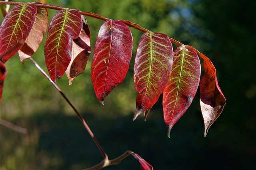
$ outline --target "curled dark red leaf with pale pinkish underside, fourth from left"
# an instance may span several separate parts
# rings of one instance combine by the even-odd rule
[[[78,38],[72,40],[72,56],[71,61],[66,70],[69,85],[76,76],[84,72],[88,57],[91,53],[90,30],[86,19],[82,16],[82,31]]]

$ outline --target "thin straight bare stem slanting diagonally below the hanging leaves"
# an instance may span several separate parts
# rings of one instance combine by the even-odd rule
[[[86,128],[86,130],[89,132],[90,136],[92,137],[92,139],[94,140],[95,144],[98,146],[102,156],[104,157],[104,160],[108,160],[108,155],[106,154],[106,152],[104,152],[103,148],[100,146],[100,143],[98,142],[98,140],[95,138],[92,130],[90,129],[90,127],[87,125],[86,121],[83,119],[83,117],[80,115],[80,113],[76,110],[76,108],[74,107],[74,105],[72,105],[72,103],[68,100],[68,98],[66,97],[66,95],[64,95],[64,93],[62,92],[62,90],[60,89],[60,87],[58,87],[58,85],[56,85],[56,83],[54,83],[54,81],[52,81],[52,79],[44,72],[44,70],[36,63],[36,61],[34,59],[32,59],[32,57],[29,58],[32,63],[34,63],[34,65],[41,71],[41,73],[50,81],[50,83],[52,83],[52,85],[60,92],[60,94],[62,95],[62,97],[66,100],[66,102],[72,107],[72,109],[74,110],[74,112],[76,113],[76,115],[79,117],[79,119],[82,121],[84,127]]]

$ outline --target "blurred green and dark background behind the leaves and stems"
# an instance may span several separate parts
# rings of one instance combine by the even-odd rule
[[[256,168],[255,1],[48,0],[47,3],[91,11],[114,20],[130,20],[151,31],[165,33],[196,47],[217,69],[227,104],[206,138],[199,94],[172,128],[170,138],[166,135],[161,99],[146,122],[142,116],[132,121],[136,100],[132,64],[126,79],[107,97],[104,106],[97,101],[92,88],[92,55],[85,72],[74,79],[71,87],[65,75],[57,80],[110,159],[132,150],[155,170]],[[49,10],[50,19],[55,13]],[[103,22],[86,19],[93,50]],[[142,32],[133,28],[131,31],[135,53]],[[33,58],[46,71],[43,49],[42,44]],[[80,120],[32,62],[22,64],[16,55],[6,67],[0,116],[26,128],[28,134],[0,125],[1,170],[77,170],[102,160]],[[119,165],[104,169],[140,169],[140,164],[129,156]]]

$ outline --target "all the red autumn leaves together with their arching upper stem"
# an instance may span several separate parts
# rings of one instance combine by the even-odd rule
[[[138,92],[134,120],[141,113],[146,120],[162,94],[164,121],[170,136],[170,130],[190,107],[198,87],[205,136],[220,116],[226,99],[218,85],[216,69],[210,59],[194,47],[128,20],[111,20],[92,12],[41,3],[13,4],[16,6],[10,12],[3,13],[6,16],[0,26],[0,95],[6,77],[6,61],[17,52],[21,62],[31,59],[47,28],[44,56],[51,81],[55,82],[66,73],[71,85],[73,79],[84,72],[91,53],[90,28],[85,18],[90,16],[104,20],[98,31],[91,65],[92,84],[100,103],[104,104],[128,72],[133,50],[130,26],[144,32],[134,56],[134,87]],[[48,8],[59,10],[49,26]],[[173,49],[172,44],[178,46]],[[203,59],[205,71],[201,79],[198,55]],[[133,156],[140,163],[142,160],[142,166],[143,162],[145,164],[138,155]],[[146,162],[144,169],[148,165]]]

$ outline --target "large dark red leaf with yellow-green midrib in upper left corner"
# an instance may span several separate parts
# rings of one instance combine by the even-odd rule
[[[17,5],[6,15],[0,27],[0,60],[5,63],[23,45],[36,20],[33,4]]]

